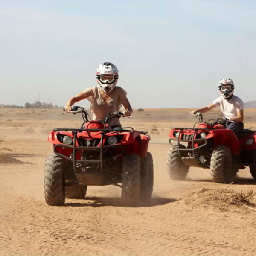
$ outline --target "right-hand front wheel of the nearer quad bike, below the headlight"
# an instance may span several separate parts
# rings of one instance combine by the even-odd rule
[[[122,163],[122,205],[136,206],[140,200],[140,156],[127,154]]]

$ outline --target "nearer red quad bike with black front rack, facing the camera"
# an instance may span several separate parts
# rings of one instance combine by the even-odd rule
[[[84,198],[88,185],[120,187],[124,206],[148,203],[154,175],[147,132],[111,128],[111,119],[130,117],[121,112],[109,113],[104,120],[89,120],[78,106],[64,113],[81,113],[84,122],[78,129],[55,128],[49,133],[53,153],[45,161],[46,203],[63,205],[65,198]]]

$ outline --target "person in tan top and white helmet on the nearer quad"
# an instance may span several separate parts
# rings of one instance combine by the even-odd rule
[[[116,86],[118,80],[117,67],[104,62],[97,67],[96,81],[98,86],[85,89],[67,101],[65,111],[70,111],[71,106],[82,99],[88,99],[90,110],[93,112],[94,120],[103,120],[108,113],[119,111],[121,106],[125,107],[124,115],[130,116],[133,112],[130,102],[126,97],[126,91]],[[110,120],[111,127],[121,126],[119,119]]]

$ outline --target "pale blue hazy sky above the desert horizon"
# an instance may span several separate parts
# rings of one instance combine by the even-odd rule
[[[0,0],[0,104],[66,105],[104,61],[134,108],[208,105],[224,77],[256,100],[256,1]]]

